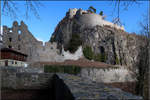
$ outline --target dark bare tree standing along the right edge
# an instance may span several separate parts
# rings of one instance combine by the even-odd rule
[[[140,22],[140,33],[144,36],[145,46],[141,46],[141,53],[139,54],[140,60],[137,65],[138,75],[137,75],[137,94],[142,95],[145,99],[149,98],[149,66],[150,66],[150,23],[149,23],[150,12],[143,15],[143,20]]]

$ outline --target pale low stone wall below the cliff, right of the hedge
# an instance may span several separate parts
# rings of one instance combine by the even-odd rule
[[[95,82],[135,82],[133,72],[124,67],[116,68],[82,68],[80,76]]]

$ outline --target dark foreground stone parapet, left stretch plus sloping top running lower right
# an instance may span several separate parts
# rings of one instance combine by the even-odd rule
[[[2,73],[2,90],[44,89],[47,91],[43,91],[40,95],[36,96],[40,97],[44,93],[52,100],[142,100],[142,97],[124,92],[121,89],[108,87],[102,83],[97,84],[96,82],[74,75],[60,73],[18,73],[17,69],[8,69],[7,67],[1,67],[0,71]],[[39,100],[42,100],[42,98],[39,98]]]

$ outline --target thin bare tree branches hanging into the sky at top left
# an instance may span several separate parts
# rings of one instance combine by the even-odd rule
[[[31,0],[25,0],[24,2],[25,7],[25,16],[28,19],[29,13],[33,13],[36,18],[40,19],[38,10],[42,5],[41,2],[37,1],[31,1]],[[11,18],[18,18],[20,16],[20,6],[18,4],[18,1],[13,0],[3,0],[2,3],[2,14],[5,16],[10,16]],[[21,11],[22,12],[22,11]]]

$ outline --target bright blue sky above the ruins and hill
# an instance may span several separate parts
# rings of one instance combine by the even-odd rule
[[[90,6],[97,9],[97,13],[100,11],[106,15],[106,20],[112,21],[116,17],[116,10],[114,10],[114,4],[111,1],[41,1],[43,6],[39,7],[38,13],[40,19],[37,19],[32,12],[30,17],[26,19],[24,1],[13,1],[17,3],[19,12],[18,18],[12,18],[10,16],[1,16],[1,27],[6,25],[12,27],[13,21],[21,20],[28,26],[29,31],[41,41],[49,41],[52,33],[54,32],[57,24],[65,17],[69,8],[82,8],[87,10]],[[34,2],[34,1],[33,1]],[[139,31],[139,22],[142,21],[142,16],[145,12],[148,12],[148,1],[139,1],[141,4],[133,4],[128,7],[128,10],[123,10],[121,6],[120,19],[127,32],[132,33]],[[3,7],[3,5],[2,5]]]

